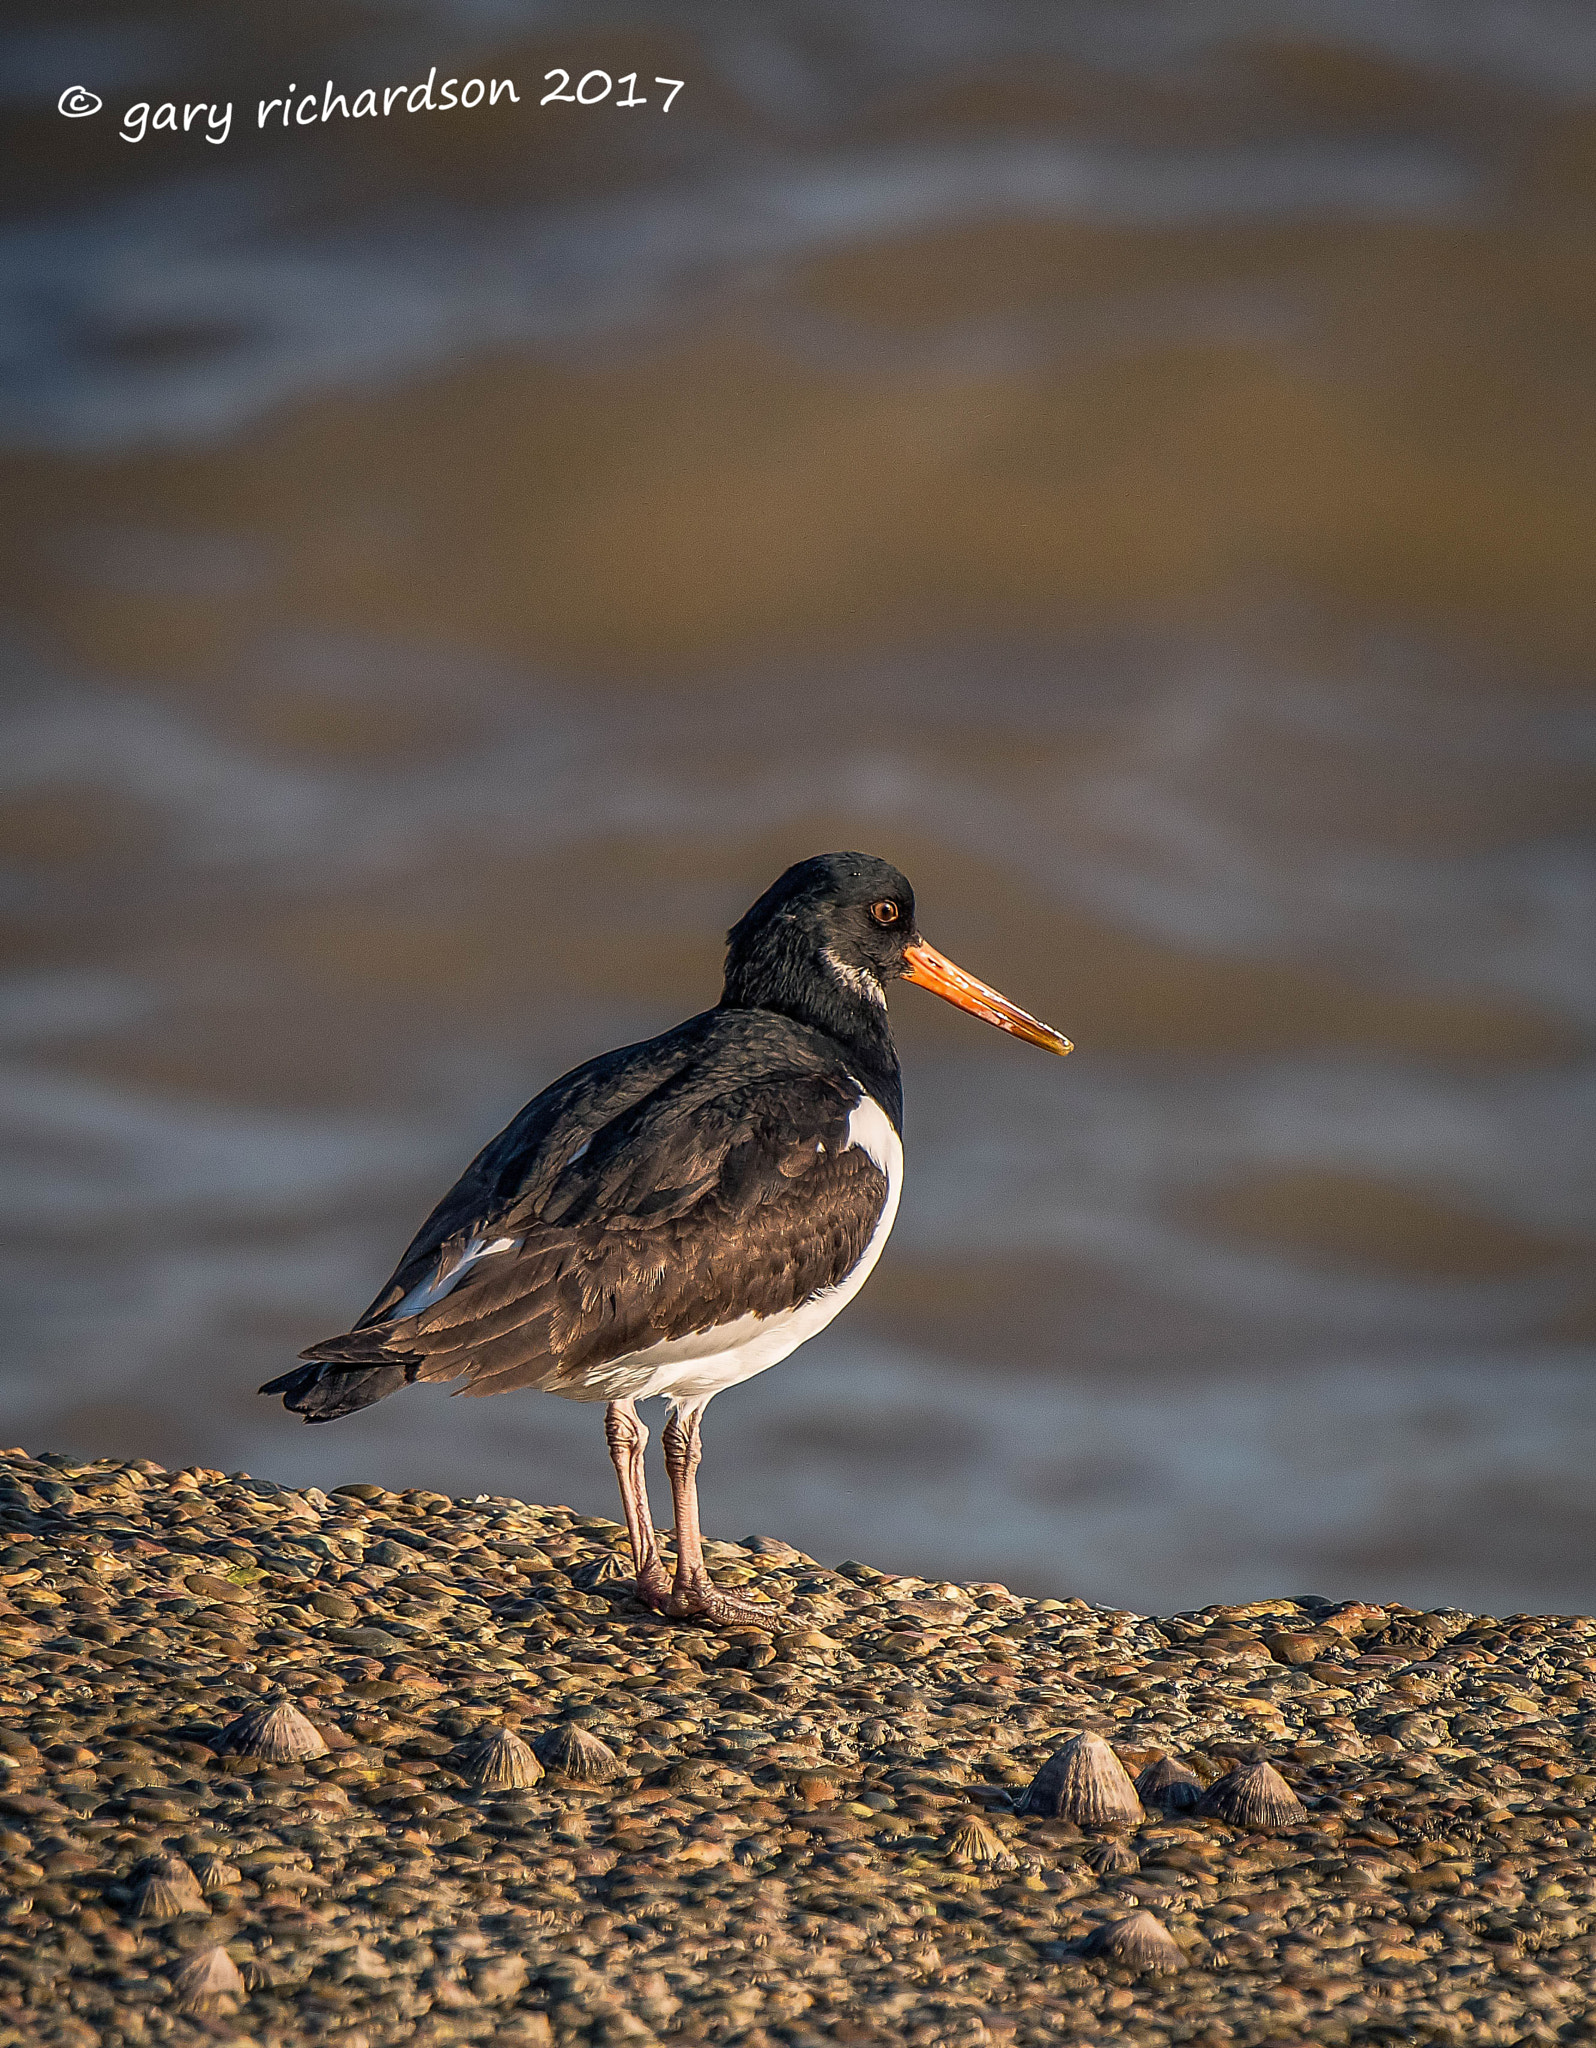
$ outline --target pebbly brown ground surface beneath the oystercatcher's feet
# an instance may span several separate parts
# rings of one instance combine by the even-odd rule
[[[1596,2042],[1594,1620],[709,1556],[774,1636],[565,1507],[0,1454],[0,2048]],[[1305,1810],[1018,1812],[1076,1735]]]

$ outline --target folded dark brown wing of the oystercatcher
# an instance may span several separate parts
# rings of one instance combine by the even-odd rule
[[[490,1208],[453,1225],[514,1249],[395,1319],[408,1288],[393,1288],[428,1270],[408,1255],[383,1296],[387,1319],[379,1311],[303,1356],[467,1378],[469,1393],[580,1384],[631,1352],[836,1286],[887,1200],[887,1176],[848,1143],[858,1085],[793,1028],[774,1071],[768,1044],[756,1063],[738,1057],[748,1028],[707,1034],[553,1171],[500,1184]],[[555,1151],[545,1139],[543,1153]]]

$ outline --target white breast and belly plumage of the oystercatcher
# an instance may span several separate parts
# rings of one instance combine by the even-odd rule
[[[781,1364],[799,1343],[826,1329],[871,1278],[875,1262],[891,1237],[891,1227],[897,1221],[897,1198],[904,1192],[904,1143],[881,1104],[863,1090],[848,1116],[848,1145],[856,1145],[887,1176],[887,1200],[881,1204],[881,1214],[858,1264],[836,1286],[822,1288],[797,1309],[783,1309],[779,1315],[740,1315],[715,1329],[697,1329],[686,1337],[652,1343],[645,1352],[611,1360],[592,1372],[582,1386],[553,1386],[551,1391],[572,1401],[621,1401],[627,1397],[647,1401],[652,1395],[668,1395],[680,1409],[701,1409],[721,1389],[752,1380],[756,1372]]]

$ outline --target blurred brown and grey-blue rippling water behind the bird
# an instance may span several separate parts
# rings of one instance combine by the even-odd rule
[[[434,63],[520,104],[256,127]],[[23,0],[0,76],[4,1436],[615,1513],[592,1409],[254,1386],[860,846],[1078,1053],[899,991],[893,1247],[711,1532],[1596,1606],[1588,6]]]

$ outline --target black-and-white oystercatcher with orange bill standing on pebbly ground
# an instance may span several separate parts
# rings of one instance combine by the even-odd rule
[[[699,1536],[699,1430],[860,1290],[897,1214],[904,1087],[887,983],[1069,1040],[928,946],[885,860],[789,868],[727,934],[715,1010],[604,1053],[527,1104],[422,1225],[342,1337],[260,1391],[305,1421],[410,1380],[604,1401],[637,1565],[662,1614],[770,1624],[719,1591]],[[654,1534],[637,1401],[664,1395],[676,1573]]]

